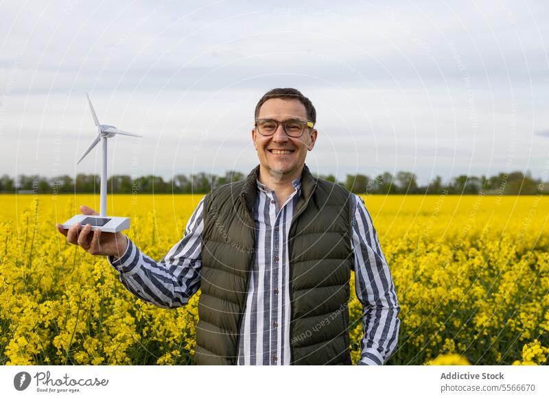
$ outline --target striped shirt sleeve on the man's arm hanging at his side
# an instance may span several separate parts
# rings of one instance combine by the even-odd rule
[[[355,256],[355,289],[362,303],[360,361],[382,365],[395,351],[399,335],[400,306],[389,266],[377,239],[362,197],[353,194],[352,243]]]

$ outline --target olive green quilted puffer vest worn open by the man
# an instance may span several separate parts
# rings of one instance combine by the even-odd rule
[[[240,323],[255,254],[253,206],[259,165],[204,202],[195,363],[237,363]],[[350,193],[305,165],[290,254],[290,359],[294,365],[351,364],[349,354]]]

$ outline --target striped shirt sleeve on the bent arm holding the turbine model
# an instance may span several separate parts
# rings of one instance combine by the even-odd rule
[[[129,238],[124,255],[117,260],[107,256],[108,263],[119,272],[120,281],[128,291],[165,309],[189,302],[200,288],[203,208],[204,197],[191,215],[183,239],[160,262],[143,254]]]

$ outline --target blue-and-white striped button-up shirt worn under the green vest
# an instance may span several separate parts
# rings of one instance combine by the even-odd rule
[[[290,364],[290,292],[288,236],[301,178],[284,204],[274,191],[257,180],[253,215],[257,239],[244,317],[240,326],[239,365]],[[395,286],[364,201],[352,195],[354,207],[351,248],[354,254],[355,290],[362,303],[360,365],[381,365],[395,351],[399,333]],[[117,261],[108,261],[122,284],[142,300],[166,309],[184,306],[200,288],[200,234],[204,226],[202,198],[189,219],[185,236],[160,262],[143,254],[128,238]],[[271,256],[274,254],[274,257]],[[278,255],[277,255],[278,254]]]

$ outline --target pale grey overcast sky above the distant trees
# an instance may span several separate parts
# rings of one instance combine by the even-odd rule
[[[314,173],[531,171],[549,180],[546,1],[11,1],[0,5],[0,174],[257,165],[255,104],[317,110]]]

